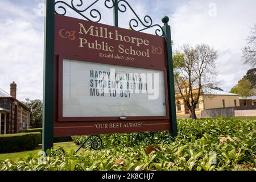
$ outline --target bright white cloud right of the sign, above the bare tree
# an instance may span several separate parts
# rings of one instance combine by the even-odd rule
[[[255,1],[214,1],[216,16],[209,16],[211,1],[190,1],[172,15],[175,47],[184,43],[209,44],[218,51],[217,71],[226,91],[237,84],[249,65],[242,64],[243,46],[249,27],[255,22]],[[213,4],[213,3],[212,3]],[[212,12],[210,12],[212,13]]]

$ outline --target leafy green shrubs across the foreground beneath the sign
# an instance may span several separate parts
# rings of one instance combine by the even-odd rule
[[[0,170],[255,170],[256,119],[180,119],[175,142],[164,143],[167,132],[155,133],[151,143],[136,146],[135,134],[102,135],[101,150],[75,154],[63,148],[48,156],[0,161]],[[84,137],[74,137],[77,143]],[[86,146],[89,147],[89,146]],[[89,149],[89,148],[88,148]]]

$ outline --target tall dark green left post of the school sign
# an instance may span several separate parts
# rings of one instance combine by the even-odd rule
[[[44,20],[44,92],[43,92],[43,151],[53,147],[53,86],[54,86],[54,8],[55,1],[46,0]]]

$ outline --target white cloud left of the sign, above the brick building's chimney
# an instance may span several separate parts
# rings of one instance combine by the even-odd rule
[[[42,99],[43,24],[38,19],[34,21],[34,13],[24,11],[10,2],[6,2],[5,6],[1,3],[0,15],[9,16],[6,15],[8,19],[0,20],[0,86],[10,92],[10,83],[15,81],[18,84],[19,100]],[[42,27],[39,28],[38,24]]]

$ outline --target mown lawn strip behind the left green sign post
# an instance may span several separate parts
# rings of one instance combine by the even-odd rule
[[[63,147],[64,150],[67,151],[67,152],[71,151],[72,149],[77,150],[77,148],[79,147],[74,142],[54,143],[53,146],[55,148]],[[81,149],[81,150],[83,150],[83,149]],[[38,147],[38,149],[31,150],[31,151],[0,154],[0,160],[10,159],[10,160],[16,161],[20,157],[26,157],[26,156],[29,156],[30,154],[37,155],[38,152],[40,152],[40,151],[42,151],[42,149],[40,147]]]

